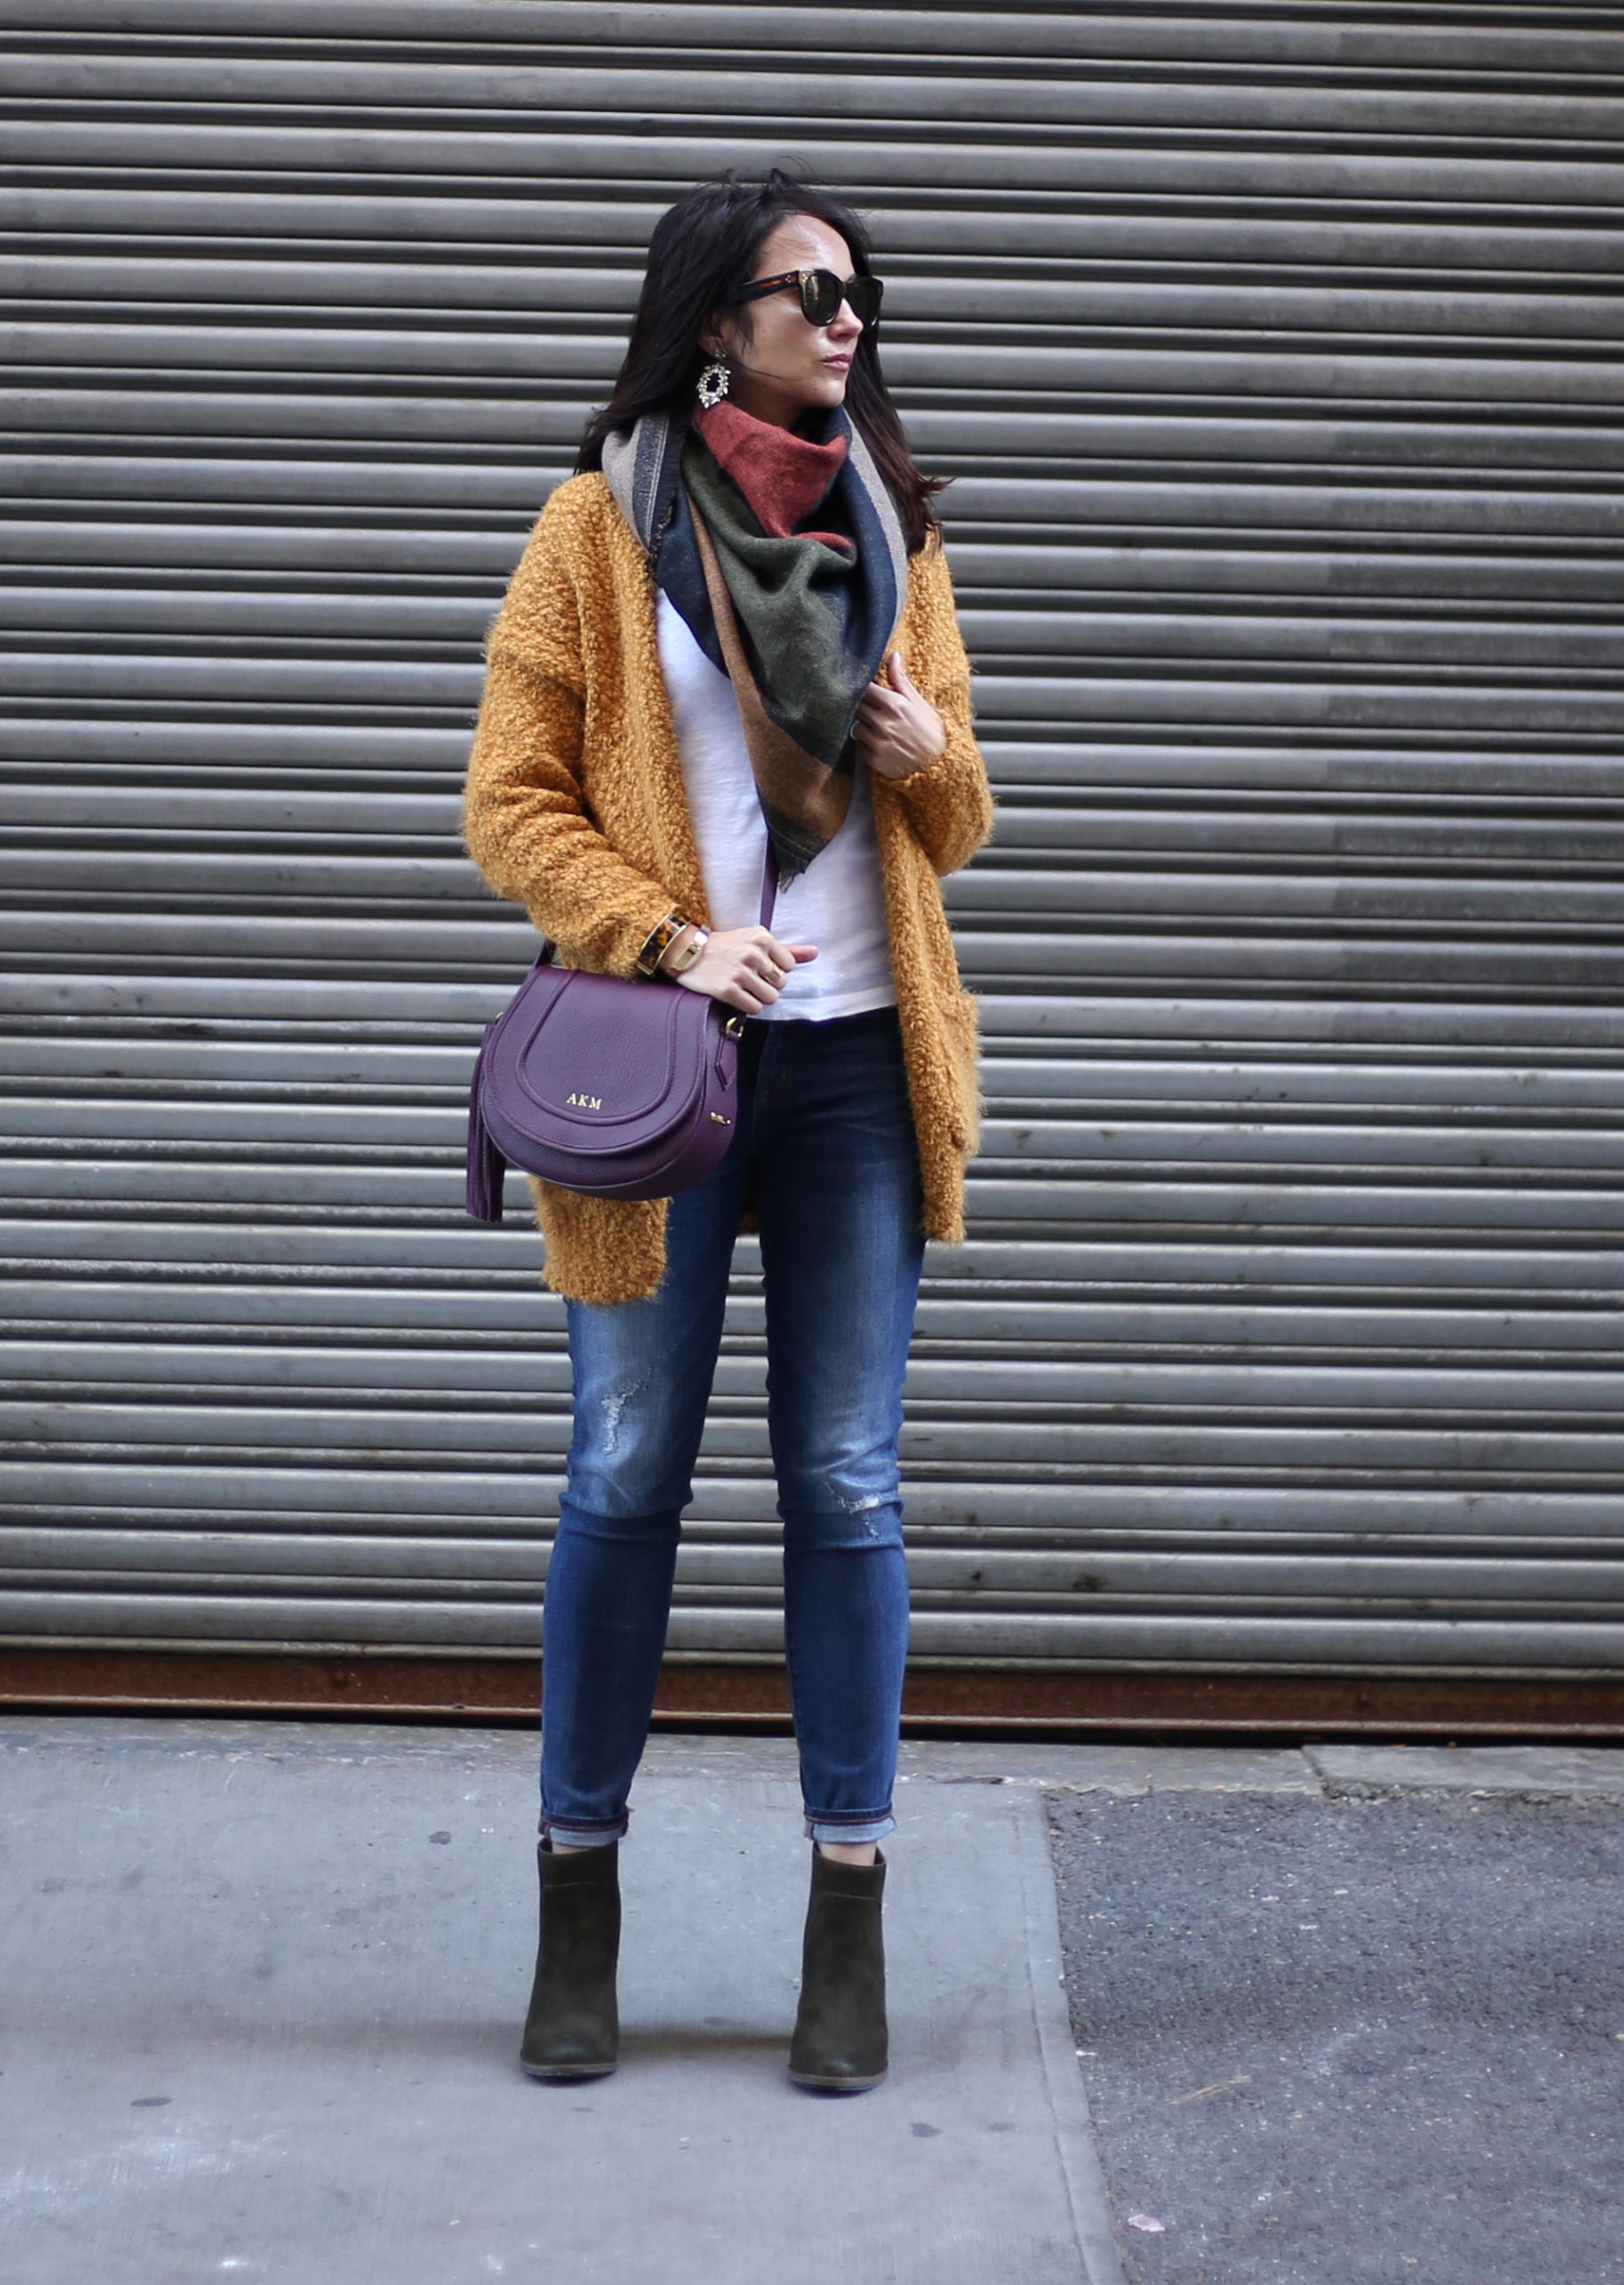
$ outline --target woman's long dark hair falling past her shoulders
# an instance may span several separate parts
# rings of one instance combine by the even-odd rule
[[[763,242],[790,215],[827,222],[852,249],[857,270],[868,276],[868,231],[857,215],[829,192],[799,183],[779,167],[763,183],[742,183],[729,171],[715,183],[690,190],[660,215],[649,240],[649,272],[637,297],[626,361],[610,402],[587,423],[576,457],[578,471],[601,468],[605,439],[626,434],[644,414],[688,411],[706,361],[699,347],[701,327],[751,281]],[[925,475],[909,452],[879,370],[873,324],[863,327],[852,356],[845,409],[875,455],[909,553],[916,553],[939,530],[932,496],[943,489],[943,480]]]

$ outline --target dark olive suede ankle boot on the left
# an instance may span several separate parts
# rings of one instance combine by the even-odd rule
[[[541,1867],[541,1949],[518,2061],[532,2079],[601,2079],[619,2063],[614,1963],[621,1949],[619,1842]]]

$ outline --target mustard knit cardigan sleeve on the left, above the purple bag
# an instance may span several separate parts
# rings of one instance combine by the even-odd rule
[[[571,967],[635,976],[672,898],[587,813],[587,672],[566,507],[560,494],[548,503],[491,626],[464,841],[491,889],[523,905]]]

